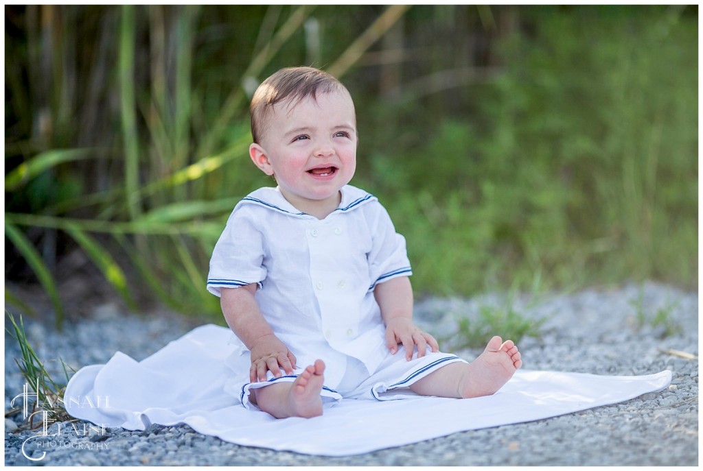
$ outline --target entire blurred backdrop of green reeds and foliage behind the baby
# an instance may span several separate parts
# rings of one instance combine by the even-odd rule
[[[303,64],[354,96],[352,183],[418,296],[695,286],[695,6],[6,6],[5,34],[6,278],[57,318],[74,248],[135,307],[221,317],[209,254],[273,184],[248,96]]]

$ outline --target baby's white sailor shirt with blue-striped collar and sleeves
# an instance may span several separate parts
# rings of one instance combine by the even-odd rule
[[[344,373],[349,355],[373,373],[388,353],[373,288],[411,274],[405,239],[378,199],[342,188],[339,207],[323,220],[301,213],[278,188],[240,201],[214,248],[207,289],[258,283],[257,303],[299,366],[317,358]],[[325,383],[335,383],[335,369]]]

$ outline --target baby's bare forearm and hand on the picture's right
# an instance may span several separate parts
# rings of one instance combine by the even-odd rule
[[[413,324],[413,288],[408,277],[377,284],[374,295],[386,324],[386,344],[391,353],[398,351],[399,343],[405,347],[408,360],[413,357],[415,345],[418,345],[418,357],[425,355],[427,345],[432,352],[439,350],[437,340]]]

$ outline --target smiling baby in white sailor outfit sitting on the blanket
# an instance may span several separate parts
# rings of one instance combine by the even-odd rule
[[[413,324],[405,239],[378,199],[349,185],[358,135],[347,88],[318,69],[281,69],[250,112],[250,157],[278,187],[240,201],[212,253],[207,288],[240,342],[226,389],[276,418],[320,416],[342,397],[500,389],[522,366],[511,340],[494,336],[467,363]]]

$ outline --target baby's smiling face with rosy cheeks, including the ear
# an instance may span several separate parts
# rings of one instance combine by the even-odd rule
[[[276,177],[285,199],[315,214],[315,208],[339,204],[340,188],[356,170],[356,142],[349,93],[318,93],[315,99],[275,105],[250,155],[262,171]]]

